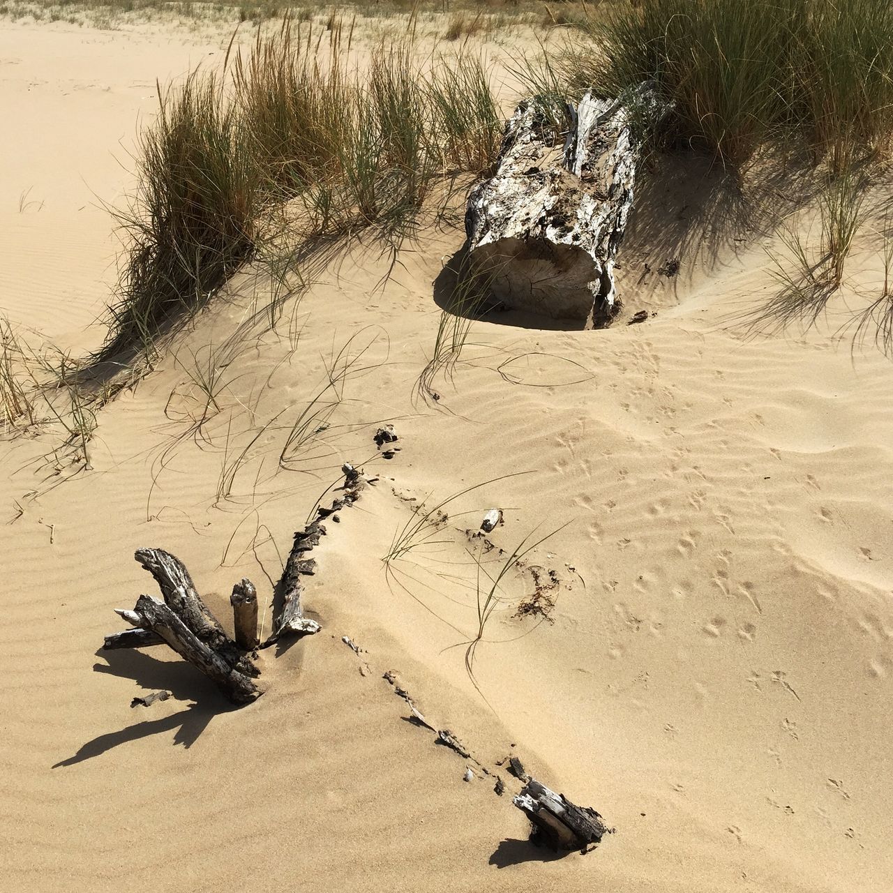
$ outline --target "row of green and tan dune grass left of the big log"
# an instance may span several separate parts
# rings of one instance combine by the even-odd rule
[[[419,61],[398,40],[361,68],[351,44],[339,19],[287,17],[224,71],[159,90],[96,360],[151,357],[249,261],[282,279],[333,240],[396,252],[435,190],[493,163],[502,121],[480,56]]]

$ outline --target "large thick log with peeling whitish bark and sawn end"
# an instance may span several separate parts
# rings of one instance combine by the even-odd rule
[[[468,258],[504,305],[605,326],[620,309],[613,268],[633,199],[633,114],[654,113],[643,84],[619,100],[587,93],[555,146],[554,105],[525,100],[505,129],[496,174],[472,190]]]

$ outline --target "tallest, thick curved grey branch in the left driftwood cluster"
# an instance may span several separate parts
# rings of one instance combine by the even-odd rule
[[[152,574],[162,590],[164,602],[177,614],[198,638],[214,652],[241,672],[253,672],[236,643],[224,632],[213,613],[208,610],[186,565],[163,549],[137,549],[134,558]],[[126,618],[125,618],[126,619]]]

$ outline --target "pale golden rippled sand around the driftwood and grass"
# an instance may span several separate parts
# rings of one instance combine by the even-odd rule
[[[113,153],[154,78],[219,38],[0,26],[22,121],[0,149],[3,313],[79,350],[101,340],[113,241],[92,196],[126,187]],[[20,213],[28,188],[45,204]],[[240,274],[99,413],[92,470],[71,480],[48,435],[0,445],[11,889],[889,889],[889,361],[825,328],[745,339],[729,313],[771,288],[759,240],[710,275],[637,284],[664,260],[649,229],[634,224],[622,286],[655,317],[478,322],[437,399],[416,383],[458,230],[421,233],[389,278],[375,246],[321,266],[275,330],[254,315],[268,284]],[[854,269],[872,263],[858,246]],[[196,430],[209,362],[223,384]],[[385,421],[390,460],[372,442]],[[314,551],[322,631],[263,652],[255,704],[228,709],[163,649],[97,653],[112,609],[154,593],[136,547],[179,555],[225,617],[242,576],[269,592],[346,461],[380,481]],[[382,560],[413,505],[466,488]],[[488,551],[466,530],[492,506]],[[505,578],[470,675],[488,579],[549,533]],[[408,721],[387,671],[476,762]],[[154,689],[173,697],[130,708]],[[616,833],[588,855],[530,847],[508,755]]]

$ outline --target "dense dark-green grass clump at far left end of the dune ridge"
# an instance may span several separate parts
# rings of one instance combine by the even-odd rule
[[[127,249],[100,361],[151,356],[256,249],[257,165],[220,79],[195,72],[159,88],[137,163],[135,196],[118,214]]]

